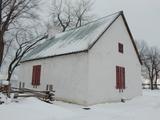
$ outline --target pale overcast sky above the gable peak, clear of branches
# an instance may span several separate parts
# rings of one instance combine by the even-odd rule
[[[46,0],[43,1],[46,2]],[[94,1],[93,12],[98,18],[123,10],[134,38],[160,47],[159,0]]]

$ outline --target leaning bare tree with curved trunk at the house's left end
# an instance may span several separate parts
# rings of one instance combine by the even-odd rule
[[[15,36],[15,40],[17,43],[16,46],[16,51],[14,54],[14,57],[12,57],[12,61],[10,62],[8,66],[8,76],[7,76],[7,81],[9,82],[8,90],[7,90],[7,96],[10,97],[10,80],[11,77],[15,71],[15,69],[20,65],[21,60],[23,57],[33,48],[35,48],[42,40],[46,39],[48,37],[47,34],[40,35],[34,39],[31,39],[32,37],[29,37],[29,39],[26,39],[27,37],[22,34],[22,31],[17,31],[17,34]],[[26,33],[25,33],[26,34]],[[9,48],[11,48],[9,46]]]

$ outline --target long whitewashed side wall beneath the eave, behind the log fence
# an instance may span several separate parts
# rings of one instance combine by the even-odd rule
[[[25,86],[31,89],[33,89],[31,85],[33,65],[41,65],[41,85],[37,89],[45,90],[46,84],[53,84],[56,99],[86,104],[88,86],[87,53],[23,63],[20,70],[20,81],[24,81]]]

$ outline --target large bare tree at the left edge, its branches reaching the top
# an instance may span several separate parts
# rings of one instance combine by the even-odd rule
[[[36,18],[32,14],[37,7],[37,0],[0,0],[0,65],[2,64],[5,34],[23,18]]]

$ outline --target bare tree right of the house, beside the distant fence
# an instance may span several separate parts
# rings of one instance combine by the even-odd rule
[[[157,80],[160,72],[160,51],[157,47],[148,47],[142,41],[138,43],[142,65],[142,76],[150,80],[151,89],[157,88]],[[155,86],[154,86],[155,85]]]

